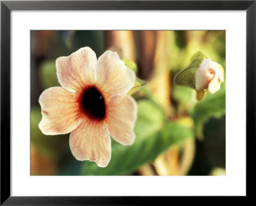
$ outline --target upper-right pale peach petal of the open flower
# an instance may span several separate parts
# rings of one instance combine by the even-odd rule
[[[126,94],[135,82],[134,72],[125,66],[116,52],[111,51],[99,57],[95,77],[107,98],[114,94]]]

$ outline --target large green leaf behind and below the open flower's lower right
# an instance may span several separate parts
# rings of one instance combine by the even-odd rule
[[[136,140],[133,145],[112,144],[111,161],[106,168],[84,161],[81,175],[127,175],[156,159],[171,145],[194,136],[191,129],[177,122],[166,122],[163,112],[148,100],[138,101],[138,120],[134,132]]]

